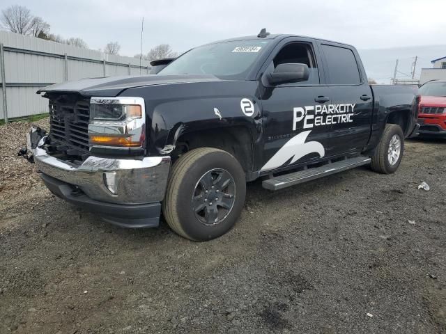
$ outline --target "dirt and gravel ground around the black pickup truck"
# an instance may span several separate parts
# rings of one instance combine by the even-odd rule
[[[29,125],[0,128],[0,333],[446,333],[445,140],[407,141],[394,175],[249,184],[199,244],[55,198],[15,157]]]

